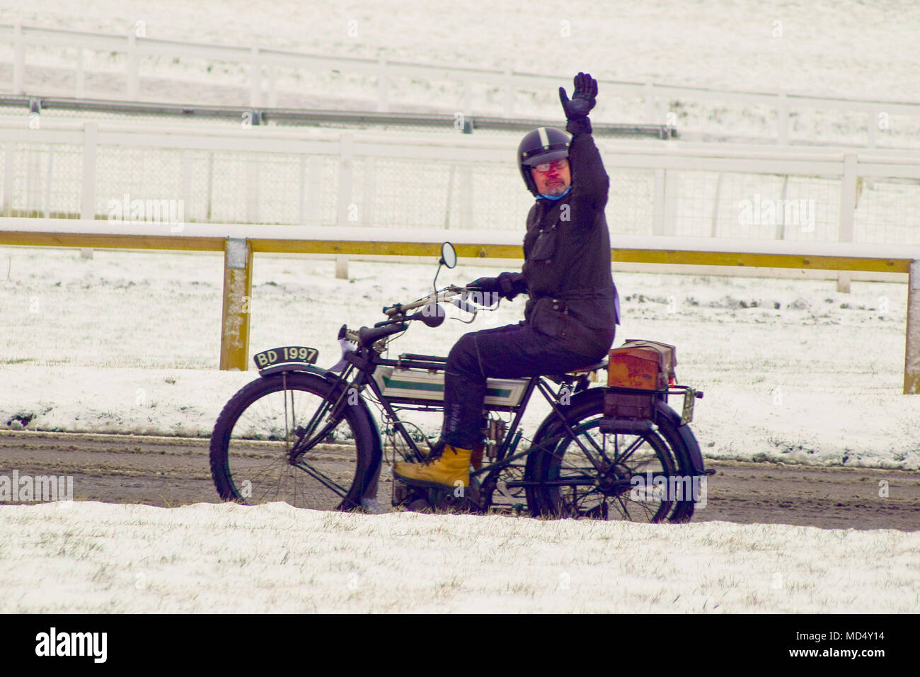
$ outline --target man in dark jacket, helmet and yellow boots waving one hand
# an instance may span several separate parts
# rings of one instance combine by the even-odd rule
[[[540,127],[518,146],[524,184],[536,197],[522,272],[480,277],[469,286],[509,300],[528,294],[524,320],[466,333],[454,344],[444,375],[441,439],[425,461],[397,462],[399,480],[467,486],[470,462],[481,462],[486,379],[565,373],[599,362],[613,344],[619,302],[604,217],[609,181],[588,119],[596,96],[597,82],[579,73],[571,99],[559,88],[571,138]]]

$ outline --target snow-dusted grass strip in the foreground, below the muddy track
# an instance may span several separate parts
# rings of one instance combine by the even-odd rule
[[[920,611],[917,531],[76,502],[0,533],[0,613]]]

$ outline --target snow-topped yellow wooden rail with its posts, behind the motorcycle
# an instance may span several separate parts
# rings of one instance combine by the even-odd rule
[[[449,233],[444,233],[449,235]],[[466,234],[468,235],[468,233]],[[754,243],[752,243],[753,245]],[[221,329],[222,369],[248,366],[249,302],[253,254],[259,252],[339,254],[345,256],[440,256],[440,242],[352,241],[336,239],[229,239],[176,235],[117,235],[104,233],[45,233],[0,230],[0,245],[87,247],[93,249],[153,249],[224,251],[224,311]],[[466,258],[521,259],[520,245],[454,245]],[[861,256],[811,256],[788,253],[738,253],[621,249],[611,251],[621,263],[684,263],[765,268],[865,271],[908,274],[907,335],[904,356],[904,393],[920,393],[920,266],[912,259]],[[236,262],[236,263],[235,263]]]

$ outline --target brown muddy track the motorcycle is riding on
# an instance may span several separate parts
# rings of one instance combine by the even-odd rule
[[[920,530],[920,473],[707,461],[707,506],[721,520],[824,529]],[[0,431],[0,475],[72,475],[76,500],[175,507],[218,501],[208,440]],[[888,496],[880,495],[880,482]],[[382,488],[382,494],[385,491]],[[383,498],[383,496],[381,496]]]

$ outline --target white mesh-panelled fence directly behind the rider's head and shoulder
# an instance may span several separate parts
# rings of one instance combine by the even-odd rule
[[[519,231],[533,204],[513,142],[466,134],[0,119],[0,144],[5,216]],[[914,153],[598,145],[614,234],[920,243]]]

